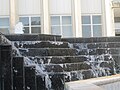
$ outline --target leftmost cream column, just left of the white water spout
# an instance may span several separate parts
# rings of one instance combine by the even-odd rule
[[[14,27],[18,22],[18,0],[10,0],[10,33],[14,33]]]

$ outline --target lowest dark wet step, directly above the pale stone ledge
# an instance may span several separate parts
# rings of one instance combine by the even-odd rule
[[[76,81],[81,79],[89,79],[95,76],[92,70],[84,70],[84,71],[71,71],[64,73],[51,73],[49,74],[49,77],[52,84],[51,87],[52,90],[64,90],[65,82]],[[44,87],[44,85],[42,87]],[[46,90],[46,89],[40,88],[40,90]]]

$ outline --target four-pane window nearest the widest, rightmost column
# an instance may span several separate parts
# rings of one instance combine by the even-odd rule
[[[102,36],[101,15],[82,16],[82,35],[83,37]]]

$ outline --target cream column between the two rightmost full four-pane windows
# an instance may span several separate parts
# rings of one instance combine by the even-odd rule
[[[81,0],[72,0],[73,36],[82,37]]]

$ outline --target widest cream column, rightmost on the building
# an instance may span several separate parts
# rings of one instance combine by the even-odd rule
[[[115,36],[114,14],[111,0],[102,0],[103,36]]]

